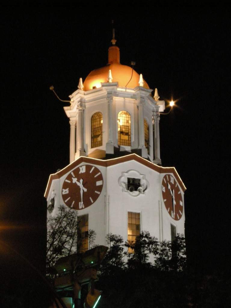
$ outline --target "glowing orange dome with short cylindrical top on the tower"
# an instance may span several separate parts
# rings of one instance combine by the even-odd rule
[[[115,49],[116,48],[116,49]],[[139,86],[140,75],[136,71],[127,65],[120,64],[119,48],[117,46],[111,46],[109,48],[108,63],[106,66],[97,68],[87,76],[83,83],[83,90],[91,90],[93,88],[101,87],[101,82],[108,82],[108,71],[111,70],[112,82],[118,82],[120,87],[135,88]],[[113,54],[112,54],[113,52]],[[149,89],[148,84],[144,81],[144,87]]]

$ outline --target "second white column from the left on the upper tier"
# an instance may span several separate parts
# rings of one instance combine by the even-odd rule
[[[79,104],[78,108],[78,121],[76,125],[76,153],[75,153],[75,159],[77,159],[79,156],[86,156],[86,152],[84,152],[84,129],[83,129],[83,110],[84,106],[82,104]]]

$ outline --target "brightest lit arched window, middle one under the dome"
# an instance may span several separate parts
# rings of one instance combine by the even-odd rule
[[[118,144],[131,145],[131,115],[125,110],[118,113]]]

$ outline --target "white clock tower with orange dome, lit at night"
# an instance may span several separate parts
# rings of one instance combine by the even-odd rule
[[[47,215],[55,217],[59,205],[78,211],[99,245],[107,245],[108,233],[135,241],[144,230],[171,240],[184,234],[186,188],[174,167],[161,166],[165,102],[157,89],[152,97],[142,74],[120,63],[120,49],[111,42],[108,63],[80,78],[64,107],[70,164],[50,175]]]

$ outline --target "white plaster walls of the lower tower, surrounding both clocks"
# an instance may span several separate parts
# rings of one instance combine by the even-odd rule
[[[83,164],[87,163],[81,163],[79,166]],[[93,229],[96,232],[95,244],[105,245],[105,235],[107,233],[121,235],[124,238],[124,241],[126,241],[128,237],[128,211],[139,212],[141,231],[148,231],[152,236],[155,236],[160,240],[159,201],[162,204],[163,239],[171,240],[171,223],[176,226],[177,233],[184,234],[184,208],[181,219],[175,221],[168,214],[168,211],[164,206],[161,192],[162,179],[165,175],[164,173],[160,174],[134,160],[112,165],[107,168],[99,165],[96,166],[103,175],[102,192],[94,204],[78,211],[78,215],[88,214],[89,229]],[[70,170],[70,172],[72,170]],[[122,172],[128,172],[129,170],[136,170],[140,172],[140,174],[145,175],[145,178],[148,181],[148,188],[145,190],[144,194],[134,197],[128,192],[122,191],[118,179],[122,175]],[[61,191],[63,181],[67,174],[63,175],[60,179],[53,180],[52,182],[47,198],[47,205],[50,203],[51,194],[54,190],[55,208],[52,214],[47,212],[48,217],[54,217],[57,215],[59,205],[64,204]],[[172,174],[172,176],[174,175]],[[183,196],[184,207],[184,193],[182,190],[181,193]],[[109,197],[109,215],[106,217],[107,203],[105,202],[105,199],[107,200],[107,197]]]

